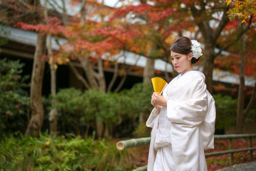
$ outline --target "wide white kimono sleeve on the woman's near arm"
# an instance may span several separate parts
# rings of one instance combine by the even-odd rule
[[[198,126],[204,121],[208,109],[204,79],[197,77],[186,88],[182,97],[167,101],[167,118],[170,122],[187,127]]]

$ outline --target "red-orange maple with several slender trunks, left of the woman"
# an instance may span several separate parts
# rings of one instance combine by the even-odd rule
[[[115,62],[118,58],[113,55],[120,53],[125,45],[133,44],[132,37],[138,36],[138,31],[132,28],[129,30],[119,27],[118,22],[111,24],[104,22],[103,18],[112,12],[110,8],[92,1],[90,3],[87,1],[82,2],[81,6],[79,6],[80,11],[78,14],[69,16],[69,19],[66,17],[65,11],[67,10],[65,4],[63,4],[62,7],[59,7],[63,11],[63,14],[60,15],[62,17],[49,17],[45,25],[17,23],[16,26],[25,30],[35,30],[42,34],[55,36],[60,50],[52,54],[49,51],[45,58],[48,58],[50,65],[52,63],[55,65],[67,63],[86,89],[97,89],[102,93],[111,91],[117,77],[122,76],[119,86],[114,90],[114,92],[117,92],[134,66],[119,65],[118,62]],[[72,1],[72,5],[75,6],[77,4],[79,4],[78,1]],[[92,11],[91,8],[96,10],[93,10],[91,14],[86,13],[87,11]],[[94,15],[99,15],[100,22],[90,19],[90,16]],[[58,37],[65,38],[65,44],[60,44]],[[78,65],[83,69],[84,75],[86,75],[85,78],[78,72],[76,67]],[[114,72],[109,86],[106,86],[104,67],[112,68]],[[103,133],[108,129],[104,129],[102,123],[96,123],[98,123],[96,129],[98,137],[108,135],[108,132]]]

